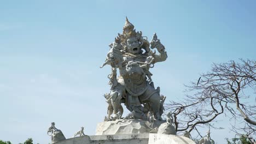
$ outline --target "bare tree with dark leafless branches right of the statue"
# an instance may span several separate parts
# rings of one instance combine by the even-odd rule
[[[249,131],[248,137],[256,135],[256,61],[213,63],[211,71],[185,87],[183,100],[165,105],[173,113],[177,131],[197,131],[203,124],[213,127],[212,122],[224,114],[245,123],[242,129]],[[249,101],[250,94],[255,101]],[[241,129],[234,124],[232,130]]]

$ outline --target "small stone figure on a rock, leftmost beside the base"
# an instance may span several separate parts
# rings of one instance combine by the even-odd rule
[[[51,133],[49,135],[49,133]],[[51,127],[48,129],[47,134],[51,136],[51,143],[59,142],[66,140],[66,137],[63,135],[62,131],[55,127],[55,123],[51,123]]]

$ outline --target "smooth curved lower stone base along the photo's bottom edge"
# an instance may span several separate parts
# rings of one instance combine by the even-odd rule
[[[165,134],[125,134],[80,136],[54,144],[195,144],[188,137]]]

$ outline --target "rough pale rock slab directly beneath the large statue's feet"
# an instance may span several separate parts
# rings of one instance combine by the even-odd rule
[[[125,121],[109,121],[98,123],[96,135],[120,135],[149,133],[153,128],[159,127],[162,121],[154,121],[153,124],[139,119]]]

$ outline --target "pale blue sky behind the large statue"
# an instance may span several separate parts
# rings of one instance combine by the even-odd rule
[[[1,1],[0,139],[48,143],[51,122],[71,137],[94,135],[107,104],[110,67],[100,69],[127,16],[168,59],[151,70],[167,100],[213,62],[255,59],[255,1]],[[254,99],[254,98],[252,98]],[[228,120],[219,127],[229,125]],[[224,125],[224,126],[223,126]],[[217,125],[216,125],[217,126]],[[206,130],[205,130],[206,131]],[[224,143],[228,128],[212,130]]]

